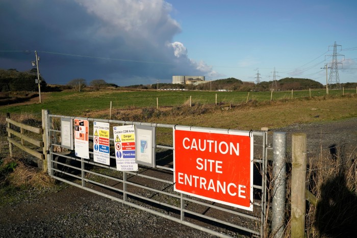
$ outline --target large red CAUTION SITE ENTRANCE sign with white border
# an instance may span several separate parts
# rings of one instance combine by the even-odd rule
[[[174,129],[174,190],[253,210],[253,136],[215,129]]]

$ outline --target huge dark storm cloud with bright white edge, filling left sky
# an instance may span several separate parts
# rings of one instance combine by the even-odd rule
[[[31,69],[37,50],[47,83],[82,77],[150,84],[215,74],[189,59],[182,43],[171,43],[181,28],[170,11],[162,0],[0,0],[0,68]]]

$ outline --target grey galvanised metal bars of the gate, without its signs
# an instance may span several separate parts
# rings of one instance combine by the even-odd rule
[[[266,207],[266,199],[267,199],[266,198],[267,153],[268,153],[268,149],[271,149],[271,148],[269,148],[269,146],[267,146],[267,141],[268,141],[267,131],[252,131],[253,136],[257,136],[257,137],[261,137],[262,138],[262,143],[261,144],[254,144],[254,145],[262,147],[261,158],[260,159],[254,159],[254,163],[261,163],[262,164],[261,167],[262,167],[262,173],[263,173],[262,174],[262,186],[258,186],[258,185],[254,185],[253,186],[254,189],[261,190],[261,201],[260,202],[259,201],[258,202],[254,202],[254,207],[258,206],[258,209],[261,211],[261,216],[260,217],[256,217],[256,216],[253,216],[251,214],[246,214],[244,212],[227,209],[227,208],[224,208],[222,206],[218,206],[218,205],[214,205],[214,204],[208,204],[208,203],[205,203],[205,202],[198,201],[196,199],[191,199],[191,198],[185,196],[184,194],[180,194],[180,195],[177,195],[177,193],[176,194],[171,194],[171,193],[160,191],[160,190],[157,190],[157,189],[154,189],[154,188],[145,187],[145,186],[142,186],[142,185],[140,185],[138,183],[128,181],[127,179],[128,179],[128,175],[139,176],[139,177],[149,178],[149,179],[152,179],[152,180],[155,180],[155,181],[167,183],[169,186],[172,186],[173,185],[173,181],[170,181],[170,180],[159,179],[159,178],[156,178],[156,177],[151,177],[151,176],[147,176],[147,175],[136,173],[136,172],[128,172],[128,171],[121,172],[121,171],[118,171],[119,173],[122,173],[122,179],[120,179],[120,178],[107,176],[105,174],[96,173],[96,172],[93,172],[93,171],[90,171],[90,170],[86,170],[85,169],[85,164],[93,165],[93,166],[97,166],[97,167],[101,167],[101,168],[112,169],[112,170],[116,170],[116,168],[113,168],[113,167],[110,167],[110,166],[107,166],[107,165],[103,165],[103,164],[94,163],[94,162],[91,162],[89,160],[83,160],[83,158],[67,156],[67,155],[63,155],[61,153],[54,152],[53,151],[53,147],[54,146],[60,146],[58,144],[55,144],[55,141],[54,141],[55,133],[61,133],[61,131],[60,130],[56,130],[55,128],[50,128],[50,125],[52,125],[53,118],[85,119],[85,120],[88,120],[88,121],[108,122],[108,123],[115,123],[115,124],[122,124],[122,125],[146,125],[146,126],[162,127],[162,128],[174,128],[175,125],[172,125],[172,124],[160,124],[160,123],[134,122],[134,121],[121,121],[121,120],[106,120],[106,119],[83,118],[83,117],[70,117],[70,116],[62,116],[62,115],[52,115],[52,114],[48,113],[48,119],[46,119],[46,126],[45,126],[46,133],[47,133],[48,138],[49,138],[49,140],[47,140],[48,141],[48,145],[46,145],[49,148],[49,151],[47,153],[48,173],[50,174],[51,177],[56,178],[56,179],[58,179],[60,181],[69,183],[69,184],[71,184],[71,185],[73,185],[75,187],[82,188],[84,190],[87,190],[87,191],[93,192],[95,194],[110,198],[110,199],[115,200],[115,201],[122,202],[122,203],[130,205],[132,207],[136,207],[136,208],[145,210],[148,213],[151,213],[151,214],[154,214],[154,215],[157,215],[157,216],[160,216],[160,217],[167,218],[169,220],[172,220],[172,221],[187,225],[189,227],[193,227],[193,228],[208,232],[208,233],[213,234],[213,235],[217,235],[219,237],[229,237],[229,236],[227,236],[226,234],[222,234],[221,232],[218,232],[218,231],[215,231],[215,230],[212,230],[212,229],[209,229],[209,228],[206,228],[206,227],[199,226],[197,224],[188,222],[188,221],[185,220],[185,214],[191,214],[191,215],[194,215],[194,216],[197,216],[197,217],[201,217],[201,218],[204,218],[204,219],[208,219],[208,220],[220,223],[220,224],[225,225],[225,226],[230,226],[232,228],[237,228],[237,229],[249,232],[249,233],[253,234],[254,236],[261,236],[261,237],[263,236],[263,231],[264,231],[263,228],[264,228],[264,225],[265,225],[264,224],[265,214],[266,214],[266,211],[267,211],[266,210],[267,209],[267,207]],[[191,127],[191,128],[209,129],[209,128],[206,128],[206,127]],[[227,131],[227,129],[221,129],[221,130],[222,131]],[[232,130],[232,129],[228,129],[228,130],[229,131],[238,131],[238,132],[247,132],[247,131],[242,131],[242,130]],[[90,136],[89,138],[92,139],[93,137]],[[112,138],[110,140],[114,141],[114,139],[112,139]],[[156,145],[156,147],[157,148],[173,150],[172,146]],[[92,152],[90,152],[90,153],[92,153]],[[79,162],[81,162],[81,168],[78,168],[78,167],[75,167],[75,166],[71,166],[71,165],[68,165],[68,164],[65,164],[65,163],[57,162],[57,161],[54,160],[54,155],[63,156],[63,157],[66,157],[66,158],[68,158],[70,160],[74,160],[74,161],[79,161]],[[110,157],[111,158],[115,158],[115,156],[110,156]],[[54,168],[54,164],[58,164],[58,165],[62,165],[62,166],[68,167],[68,168],[80,170],[81,171],[80,176],[79,175],[74,175],[74,174],[59,170],[59,169],[55,169]],[[145,166],[140,166],[140,167],[146,168]],[[165,166],[156,166],[156,169],[161,169],[161,170],[173,173],[173,169],[172,168],[165,167]],[[81,184],[79,184],[79,183],[75,183],[75,182],[69,181],[67,179],[64,179],[62,177],[57,176],[55,174],[55,172],[58,172],[60,174],[68,175],[68,176],[70,176],[72,178],[79,179],[82,182],[81,182]],[[107,178],[107,179],[115,180],[117,182],[121,182],[121,183],[123,183],[123,189],[122,190],[121,189],[117,189],[117,188],[114,188],[112,186],[108,186],[107,184],[96,182],[96,181],[90,180],[88,178],[85,178],[85,173],[94,174],[94,175],[101,176],[101,177],[104,177],[104,178]],[[92,183],[92,184],[95,184],[95,185],[98,185],[98,186],[101,186],[101,187],[105,187],[105,188],[108,188],[108,189],[111,189],[111,190],[115,190],[115,191],[117,191],[119,193],[122,193],[123,198],[120,199],[120,198],[117,198],[117,197],[114,197],[114,196],[111,196],[111,195],[108,195],[108,194],[105,194],[105,193],[98,192],[98,191],[96,191],[94,189],[88,188],[88,187],[86,187],[86,183]],[[137,194],[134,194],[134,193],[130,193],[130,192],[126,191],[126,188],[127,188],[128,185],[129,186],[136,186],[138,188],[146,189],[146,190],[149,190],[151,192],[160,193],[160,194],[163,194],[163,195],[166,195],[166,196],[171,196],[173,198],[180,199],[180,201],[181,201],[180,202],[180,206],[170,205],[170,204],[167,204],[165,202],[160,202],[160,201],[157,201],[155,199],[151,199],[151,198],[140,196],[140,195],[137,195]],[[176,218],[176,217],[161,213],[160,211],[149,209],[149,208],[140,206],[140,205],[138,205],[136,203],[130,202],[127,199],[127,195],[130,195],[131,197],[136,197],[136,198],[148,201],[148,202],[158,203],[160,205],[163,205],[165,207],[169,207],[171,209],[175,209],[175,210],[180,212],[180,214],[181,214],[180,218]],[[219,219],[216,219],[216,218],[212,218],[210,216],[206,216],[206,215],[195,213],[194,211],[185,209],[185,202],[192,202],[192,203],[196,203],[198,205],[205,205],[205,206],[208,207],[208,209],[209,208],[215,208],[217,210],[221,210],[221,211],[224,211],[226,213],[230,213],[232,215],[237,215],[237,216],[240,216],[240,217],[251,219],[255,223],[257,223],[257,222],[260,223],[260,229],[259,230],[251,229],[251,228],[248,228],[248,227],[243,227],[243,226],[240,226],[240,225],[237,225],[237,224],[233,224],[233,223],[230,223],[230,222],[226,222],[226,221],[222,221],[222,220],[219,220]]]

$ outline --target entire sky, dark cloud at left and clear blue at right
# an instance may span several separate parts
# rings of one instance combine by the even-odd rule
[[[357,1],[0,0],[0,68],[49,84],[74,78],[119,86],[172,75],[284,77],[326,83],[339,46],[340,82],[357,82]],[[331,47],[332,46],[332,47]]]

